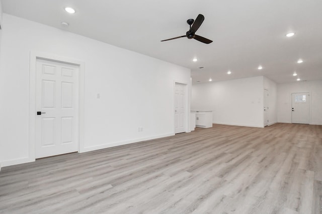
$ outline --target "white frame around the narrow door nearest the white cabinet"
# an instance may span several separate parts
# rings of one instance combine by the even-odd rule
[[[175,93],[176,93],[176,84],[185,85],[185,132],[191,132],[190,130],[190,90],[189,90],[189,83],[183,81],[174,81],[173,83],[173,133],[176,133],[176,122],[175,122]]]

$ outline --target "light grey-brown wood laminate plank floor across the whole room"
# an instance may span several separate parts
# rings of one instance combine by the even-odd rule
[[[4,167],[0,213],[322,213],[322,126],[213,125]]]

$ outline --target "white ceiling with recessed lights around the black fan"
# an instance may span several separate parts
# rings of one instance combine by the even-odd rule
[[[190,68],[193,84],[261,75],[276,83],[322,80],[320,0],[2,0],[2,5],[4,13]],[[76,13],[67,14],[65,6]],[[186,21],[198,14],[205,21],[196,34],[213,43],[160,42],[185,35]],[[288,32],[295,36],[287,38]],[[300,58],[304,62],[297,64]]]

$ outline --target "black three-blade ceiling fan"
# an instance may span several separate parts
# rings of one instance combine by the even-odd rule
[[[201,36],[195,34],[204,20],[205,20],[205,17],[201,14],[198,15],[196,21],[193,19],[187,20],[188,25],[190,25],[190,29],[189,29],[189,31],[187,31],[186,35],[167,39],[167,40],[162,40],[161,42],[179,39],[182,37],[187,37],[188,39],[195,39],[195,40],[198,40],[199,42],[206,43],[206,44],[212,43],[211,40],[208,40],[204,37],[201,37]]]

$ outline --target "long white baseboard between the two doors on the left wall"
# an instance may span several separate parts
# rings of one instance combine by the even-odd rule
[[[88,152],[88,151],[95,151],[98,149],[105,149],[105,148],[110,148],[110,147],[115,147],[115,146],[121,146],[121,145],[126,145],[130,143],[137,143],[145,140],[153,140],[157,138],[162,138],[162,137],[169,137],[175,135],[174,133],[170,134],[163,134],[163,135],[156,135],[156,136],[150,136],[150,137],[142,137],[142,138],[136,138],[132,140],[126,140],[126,141],[119,141],[119,142],[113,142],[113,143],[108,143],[108,144],[102,144],[102,145],[97,145],[97,146],[90,146],[90,147],[85,147],[83,149],[79,149],[79,153],[83,152]]]

